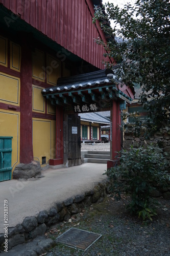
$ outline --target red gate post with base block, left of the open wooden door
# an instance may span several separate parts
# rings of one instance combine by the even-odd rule
[[[63,142],[63,108],[56,107],[56,157],[50,159],[50,165],[63,164],[64,142]]]

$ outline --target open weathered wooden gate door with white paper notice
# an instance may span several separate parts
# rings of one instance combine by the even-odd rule
[[[66,122],[65,122],[66,123]],[[64,135],[64,165],[75,166],[81,164],[81,128],[78,115],[67,115],[67,126]]]

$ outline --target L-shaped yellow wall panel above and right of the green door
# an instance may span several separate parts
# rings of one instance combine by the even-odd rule
[[[19,164],[20,113],[0,109],[0,134],[12,136],[12,171]]]

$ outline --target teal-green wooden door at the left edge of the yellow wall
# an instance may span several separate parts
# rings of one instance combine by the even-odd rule
[[[0,137],[0,181],[11,180],[12,137]]]

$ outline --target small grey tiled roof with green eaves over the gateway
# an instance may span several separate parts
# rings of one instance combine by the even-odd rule
[[[99,70],[82,75],[59,78],[57,86],[45,88],[42,95],[53,105],[68,105],[77,112],[77,106],[84,105],[91,110],[95,104],[95,111],[107,108],[109,102],[119,99],[131,103],[133,92],[130,88],[121,90],[120,81],[116,77],[118,65],[111,69]],[[85,110],[82,110],[85,112]],[[81,110],[79,110],[81,112]],[[86,111],[88,112],[88,111]]]

